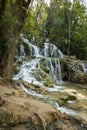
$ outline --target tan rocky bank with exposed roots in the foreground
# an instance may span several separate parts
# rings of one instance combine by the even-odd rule
[[[17,85],[0,82],[0,96],[1,130],[87,129],[87,122],[60,113],[49,104],[27,95]]]

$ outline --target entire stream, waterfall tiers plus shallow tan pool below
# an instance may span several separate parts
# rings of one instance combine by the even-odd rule
[[[21,63],[21,65],[13,79],[38,85],[40,92],[37,91],[38,88],[27,89],[23,83],[20,83],[23,90],[29,95],[50,103],[62,113],[87,121],[87,90],[85,86],[83,89],[81,86],[62,81],[60,58],[64,58],[63,53],[51,43],[44,43],[43,48],[40,48],[30,43],[23,35],[21,35],[21,39],[23,44],[20,44],[15,54],[16,63]],[[87,67],[83,63],[81,65],[86,74]],[[47,86],[48,82],[52,87]],[[76,100],[66,100],[69,95],[75,96]],[[66,102],[63,103],[62,99]],[[63,104],[61,105],[61,103]]]

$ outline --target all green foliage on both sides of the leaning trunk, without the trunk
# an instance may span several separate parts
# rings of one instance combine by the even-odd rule
[[[13,44],[20,24],[16,2],[7,0],[0,20],[0,57],[4,46]],[[36,5],[32,3],[27,10],[23,32],[33,43],[42,44],[49,38],[65,54],[69,51],[71,55],[87,59],[87,12],[81,0],[51,0],[50,7],[42,0],[36,0]]]

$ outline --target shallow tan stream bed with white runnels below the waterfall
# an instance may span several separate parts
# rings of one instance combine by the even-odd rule
[[[29,90],[23,85],[21,87],[26,93],[38,100],[51,104],[55,109],[87,121],[87,89],[86,86],[63,83],[54,85],[53,88],[41,88],[41,91]]]

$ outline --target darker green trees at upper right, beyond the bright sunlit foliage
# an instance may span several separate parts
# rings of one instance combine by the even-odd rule
[[[80,58],[79,53],[81,53],[81,48],[84,48],[84,45],[85,48],[87,48],[86,22],[86,7],[81,0],[51,0],[46,22],[47,36],[50,41],[58,45],[65,54],[76,55]],[[81,29],[84,30],[85,33],[82,33]],[[82,39],[84,37],[85,39],[83,41]],[[84,52],[84,49],[82,50]],[[85,49],[85,55],[86,52]]]

